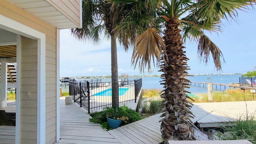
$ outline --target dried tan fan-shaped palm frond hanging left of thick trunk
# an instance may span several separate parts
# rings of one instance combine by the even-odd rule
[[[136,44],[132,53],[132,66],[136,68],[139,62],[139,71],[145,72],[148,66],[148,72],[152,72],[151,60],[155,65],[160,63],[160,56],[165,54],[163,39],[158,35],[155,28],[148,28],[145,32],[140,34],[136,39]]]

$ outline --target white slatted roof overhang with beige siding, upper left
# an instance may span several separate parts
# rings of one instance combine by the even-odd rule
[[[8,0],[58,28],[82,28],[82,0]]]

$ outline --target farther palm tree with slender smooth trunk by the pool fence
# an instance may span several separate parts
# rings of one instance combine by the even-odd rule
[[[143,32],[149,26],[148,23],[152,21],[152,14],[148,14],[151,5],[146,1],[138,2],[137,0],[130,0],[118,5],[111,4],[111,0],[83,0],[82,28],[71,29],[72,35],[79,40],[91,40],[94,43],[99,43],[102,33],[110,38],[112,107],[119,107],[116,40],[124,46],[125,50],[130,45],[134,45],[136,36]],[[143,21],[140,20],[142,18]],[[129,22],[129,24],[124,25],[125,22]],[[124,27],[126,29],[123,29]]]

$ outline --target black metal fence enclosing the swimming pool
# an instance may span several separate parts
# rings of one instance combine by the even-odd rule
[[[69,82],[69,95],[80,107],[92,111],[112,106],[111,79],[91,79],[80,82]],[[135,80],[118,80],[119,104],[136,102],[142,89],[142,78]]]

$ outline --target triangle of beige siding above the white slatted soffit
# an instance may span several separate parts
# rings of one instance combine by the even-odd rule
[[[80,21],[80,0],[46,0],[52,6],[57,8],[62,14],[64,14],[68,19],[72,20],[77,26],[80,26],[82,21]],[[80,26],[82,27],[82,26]]]

